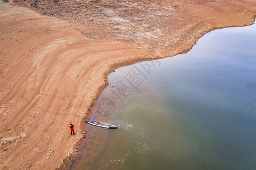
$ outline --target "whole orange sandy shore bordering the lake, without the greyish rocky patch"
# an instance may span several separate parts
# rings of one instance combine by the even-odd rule
[[[169,32],[163,29],[159,41],[142,37],[136,42],[134,35],[118,37],[126,35],[122,29],[111,33],[114,24],[106,30],[106,23],[83,27],[79,22],[0,1],[0,169],[57,168],[84,135],[80,130],[82,118],[100,87],[106,85],[105,75],[113,66],[173,56],[190,49],[212,29],[247,25],[254,20],[255,1],[234,1],[226,13],[220,11],[223,7],[217,8],[218,2],[209,1],[208,6],[197,8],[184,6],[177,10],[177,15],[183,14],[184,23],[178,18]],[[193,20],[200,18],[200,22],[191,20],[193,11],[197,11]],[[102,35],[100,38],[88,36],[93,24],[94,35]],[[166,37],[170,44],[162,48],[164,36],[170,32],[174,32]],[[152,55],[148,55],[149,50]],[[75,124],[75,136],[69,133],[69,121]]]

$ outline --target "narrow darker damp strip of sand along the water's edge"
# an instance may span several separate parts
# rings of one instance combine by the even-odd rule
[[[254,21],[255,21],[255,16],[256,15],[254,15]],[[43,16],[43,17],[48,17],[48,16]],[[253,22],[251,22],[251,24],[253,24]],[[251,25],[251,24],[249,24],[249,25]],[[237,26],[237,27],[244,27],[244,26],[246,26],[246,25],[248,25],[248,24],[245,24],[245,25],[239,25],[239,26]],[[230,26],[230,27],[233,27],[233,26]],[[222,28],[228,28],[228,27],[222,27]],[[215,30],[215,29],[222,29],[222,28],[214,28],[214,29],[212,29],[212,30],[209,30],[208,32],[210,32],[210,31],[213,31],[213,30]],[[207,33],[208,33],[207,32]],[[77,35],[77,36],[79,36],[79,35]],[[203,36],[203,35],[202,35]],[[200,37],[199,37],[200,38]],[[104,40],[106,40],[106,39],[104,39]],[[112,40],[113,41],[113,40]],[[114,40],[115,41],[115,40]],[[123,43],[123,42],[122,42]],[[194,44],[193,45],[195,45],[196,44],[196,41],[194,42]],[[2,44],[1,44],[2,45]],[[185,50],[183,50],[183,52],[182,53],[187,53],[192,47],[193,47],[193,45],[191,46],[191,47],[189,47],[189,49],[185,49]],[[127,46],[131,46],[131,44],[127,44]],[[133,48],[134,50],[138,50],[138,49],[135,49],[135,48]],[[142,52],[143,51],[143,52]],[[152,59],[159,59],[159,58],[165,58],[165,57],[160,57],[160,56],[157,56],[157,57],[153,57],[153,58],[150,58],[150,57],[148,57],[148,58],[146,58],[146,57],[144,57],[144,54],[142,55],[142,53],[147,53],[148,51],[147,50],[142,50],[142,51],[139,51],[138,52],[138,54],[141,54],[141,57],[140,58],[131,58],[131,56],[133,56],[133,57],[136,57],[137,55],[133,55],[133,54],[131,54],[131,56],[130,56],[130,58],[123,58],[123,61],[116,61],[116,60],[112,60],[112,62],[114,62],[114,63],[112,63],[112,65],[111,65],[111,63],[109,63],[109,65],[108,65],[108,63],[106,64],[107,66],[106,67],[108,67],[108,70],[107,71],[105,71],[105,73],[104,73],[104,75],[103,75],[103,78],[104,78],[104,83],[103,84],[101,84],[101,86],[100,87],[98,87],[97,88],[97,91],[96,92],[93,92],[93,95],[92,95],[92,97],[89,99],[91,102],[89,102],[89,104],[88,104],[88,108],[86,109],[86,111],[83,113],[84,114],[84,116],[82,116],[81,117],[81,119],[82,119],[82,121],[79,123],[79,129],[80,129],[80,131],[82,131],[81,129],[84,129],[84,128],[82,128],[82,126],[84,126],[85,125],[85,122],[84,122],[84,118],[86,118],[86,117],[90,117],[91,115],[90,114],[92,114],[92,110],[93,110],[93,107],[92,107],[92,105],[95,105],[96,103],[97,103],[97,100],[98,100],[98,96],[100,96],[100,94],[101,94],[101,92],[105,89],[105,87],[106,86],[108,86],[108,80],[106,80],[107,79],[107,76],[112,72],[112,70],[115,70],[116,68],[118,68],[118,67],[122,67],[122,66],[127,66],[127,65],[131,65],[131,64],[134,64],[134,63],[136,63],[136,62],[140,62],[140,61],[146,61],[146,60],[152,60]],[[171,52],[169,52],[169,53],[171,53]],[[180,54],[180,53],[179,53]],[[174,56],[176,56],[177,54],[173,54],[172,56],[169,56],[169,57],[174,57]],[[164,55],[163,55],[164,56]],[[90,71],[90,70],[89,70]],[[98,77],[98,78],[100,78],[100,77]],[[105,84],[105,85],[104,85]],[[8,90],[8,89],[7,89]],[[97,98],[97,100],[96,101],[94,101],[93,99],[95,99],[95,98]],[[80,99],[77,99],[77,100],[80,100]],[[82,99],[83,100],[83,99]],[[2,101],[3,100],[1,100],[1,103],[2,103]],[[86,116],[85,116],[86,115]],[[60,119],[59,119],[60,120]],[[79,120],[79,118],[77,118],[77,120]],[[57,120],[56,120],[57,121]],[[56,125],[55,125],[56,126]],[[76,126],[76,127],[78,127],[78,126]],[[79,130],[79,129],[77,129],[77,130]],[[1,129],[2,131],[3,131],[3,129]],[[66,130],[64,130],[64,131],[66,131]],[[82,133],[81,133],[82,134]],[[80,134],[80,135],[81,135]],[[85,132],[85,134],[86,134],[86,132]],[[64,135],[64,134],[62,134],[62,135]],[[79,135],[79,134],[78,134]],[[2,137],[2,135],[1,135],[1,137]],[[85,135],[82,135],[81,136],[81,138],[83,138],[83,137],[85,137]],[[31,139],[31,138],[30,138]],[[67,137],[66,137],[66,139],[67,139]],[[85,140],[85,139],[83,139],[83,140]],[[77,141],[79,141],[79,139],[77,139]],[[76,145],[72,145],[71,146],[71,148],[75,148],[77,145],[79,145],[79,143],[80,142],[78,142]],[[27,144],[27,145],[29,145],[29,144]],[[40,148],[39,148],[39,150],[40,150]],[[1,155],[2,155],[2,153],[3,152],[1,152]],[[53,156],[53,158],[55,158],[54,156]],[[68,157],[68,158],[71,158],[71,157]],[[42,158],[43,159],[43,158]],[[55,160],[55,159],[54,159]],[[67,158],[65,158],[65,160],[67,160]],[[58,162],[59,162],[59,160],[58,160]],[[44,163],[43,163],[44,165],[46,165],[47,164],[47,162],[46,161],[44,161]],[[43,165],[42,164],[42,165]],[[64,164],[65,164],[65,161],[64,161]],[[64,165],[64,164],[62,164],[62,165]],[[30,164],[29,164],[30,165]],[[49,166],[49,165],[48,165]],[[1,165],[1,167],[2,167],[2,165]],[[51,168],[53,168],[52,167],[52,165],[50,166]],[[56,167],[56,166],[55,166]]]

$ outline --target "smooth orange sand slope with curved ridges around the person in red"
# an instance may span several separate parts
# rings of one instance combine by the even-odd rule
[[[1,137],[28,135],[2,145],[8,150],[1,148],[0,167],[56,168],[82,136],[81,120],[105,84],[102,73],[146,52],[113,38],[90,40],[27,8],[1,4],[0,11],[0,49],[9,59],[0,83]]]

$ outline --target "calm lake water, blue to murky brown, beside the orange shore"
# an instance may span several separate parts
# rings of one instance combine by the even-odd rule
[[[151,55],[151,54],[148,54]],[[255,169],[256,25],[108,76],[74,169]]]

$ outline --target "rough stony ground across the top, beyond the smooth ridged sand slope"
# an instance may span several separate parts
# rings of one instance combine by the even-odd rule
[[[43,15],[80,23],[83,27],[77,30],[85,36],[112,36],[138,48],[155,50],[158,56],[188,50],[214,28],[249,24],[256,8],[253,0],[15,2]]]

